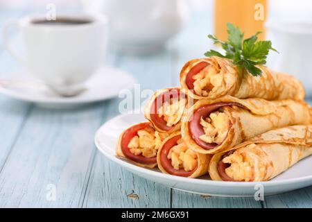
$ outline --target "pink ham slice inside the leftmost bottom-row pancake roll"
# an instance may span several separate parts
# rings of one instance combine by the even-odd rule
[[[135,155],[131,153],[128,144],[130,143],[131,139],[137,135],[137,131],[143,130],[145,128],[152,127],[150,123],[139,123],[135,126],[132,126],[125,130],[123,136],[121,137],[121,151],[123,155],[127,157],[129,160],[137,162],[139,164],[155,164],[157,162],[156,157],[144,157],[144,155]]]

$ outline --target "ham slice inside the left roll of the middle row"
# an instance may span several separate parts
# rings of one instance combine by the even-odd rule
[[[180,89],[169,89],[166,92],[163,92],[162,94],[159,94],[152,105],[150,106],[150,121],[159,128],[160,130],[169,131],[174,126],[167,126],[167,122],[164,120],[164,117],[159,117],[159,108],[162,107],[162,104],[165,102],[170,102],[171,99],[177,100],[177,99],[186,99],[187,96],[180,91]]]

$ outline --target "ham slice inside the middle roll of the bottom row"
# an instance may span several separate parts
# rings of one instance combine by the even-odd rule
[[[172,137],[171,139],[168,139],[165,144],[162,146],[162,150],[160,151],[160,162],[162,163],[162,167],[165,169],[165,171],[171,175],[175,176],[184,176],[189,177],[192,175],[194,171],[196,171],[197,167],[193,169],[192,171],[184,171],[184,169],[174,169],[171,160],[168,159],[168,153],[173,148],[173,146],[177,145],[177,141],[181,139],[181,135],[177,135],[175,137]]]

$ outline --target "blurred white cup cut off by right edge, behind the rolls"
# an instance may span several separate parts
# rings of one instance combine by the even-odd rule
[[[301,80],[312,96],[312,22],[267,22],[268,39],[279,53],[270,53],[268,67]]]

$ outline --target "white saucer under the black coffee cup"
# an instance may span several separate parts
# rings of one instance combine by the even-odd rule
[[[38,81],[26,71],[8,75],[10,80]],[[7,79],[7,78],[6,78]],[[49,108],[72,108],[118,96],[121,89],[132,89],[135,79],[127,72],[114,67],[101,67],[85,83],[87,90],[78,96],[62,97],[44,89],[0,87],[0,93],[21,101],[29,101]]]

